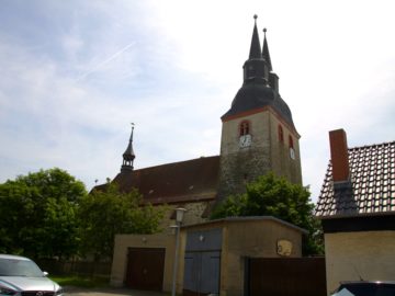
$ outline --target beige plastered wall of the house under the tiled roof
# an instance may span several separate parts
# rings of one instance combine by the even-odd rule
[[[328,295],[342,281],[394,281],[395,231],[325,234]]]

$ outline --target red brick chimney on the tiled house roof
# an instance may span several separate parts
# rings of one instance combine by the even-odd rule
[[[329,141],[334,182],[347,182],[350,180],[350,167],[345,129],[330,130]]]

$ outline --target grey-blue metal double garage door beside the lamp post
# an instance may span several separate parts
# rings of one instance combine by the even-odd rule
[[[184,296],[219,294],[222,229],[188,232]]]

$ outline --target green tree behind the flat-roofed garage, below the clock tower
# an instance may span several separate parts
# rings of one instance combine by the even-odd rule
[[[323,254],[324,241],[319,220],[313,215],[307,187],[292,184],[268,173],[247,184],[246,193],[229,196],[212,214],[212,219],[232,216],[273,216],[308,231],[303,237],[303,254]]]

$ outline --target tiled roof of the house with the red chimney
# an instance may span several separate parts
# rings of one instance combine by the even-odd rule
[[[348,149],[351,183],[335,190],[329,162],[318,218],[395,215],[395,141]]]

